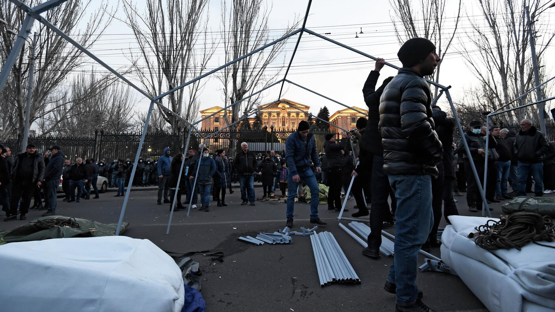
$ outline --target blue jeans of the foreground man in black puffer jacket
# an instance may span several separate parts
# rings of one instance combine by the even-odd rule
[[[418,250],[433,227],[432,177],[430,175],[390,175],[389,183],[397,199],[395,218],[395,258],[387,280],[397,286],[396,303],[407,306],[418,295],[416,271]]]

